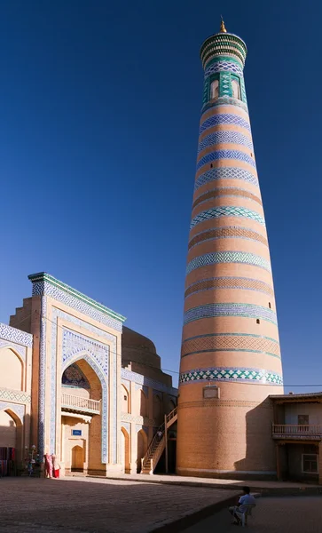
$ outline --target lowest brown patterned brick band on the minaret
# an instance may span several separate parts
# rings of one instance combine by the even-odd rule
[[[209,333],[186,338],[181,356],[205,352],[253,352],[280,357],[277,340],[247,333]]]

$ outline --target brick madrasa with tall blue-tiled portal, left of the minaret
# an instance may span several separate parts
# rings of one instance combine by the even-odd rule
[[[140,472],[177,405],[153,342],[51,275],[28,278],[32,296],[0,323],[2,472],[30,449],[55,454],[61,474]]]

